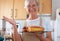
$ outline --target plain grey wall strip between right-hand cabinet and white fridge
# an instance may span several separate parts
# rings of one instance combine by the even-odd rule
[[[60,0],[52,0],[52,19],[53,20],[55,20],[57,8],[60,8]]]

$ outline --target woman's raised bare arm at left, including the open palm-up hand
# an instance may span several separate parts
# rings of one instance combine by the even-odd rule
[[[5,21],[7,21],[7,22],[9,22],[10,24],[13,25],[13,29],[14,29],[13,40],[14,41],[22,41],[21,36],[18,34],[16,22],[14,21],[14,19],[9,19],[5,16],[3,16],[3,18],[4,18]]]

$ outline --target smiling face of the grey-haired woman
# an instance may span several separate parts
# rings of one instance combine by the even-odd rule
[[[30,1],[26,11],[28,14],[37,14],[38,13],[38,5],[35,1]]]

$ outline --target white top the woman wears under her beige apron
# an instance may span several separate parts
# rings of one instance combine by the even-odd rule
[[[27,26],[40,26],[40,17],[34,20],[27,19],[26,24]],[[44,19],[44,17],[42,17],[42,26],[44,27],[45,31],[52,31],[50,21]]]

